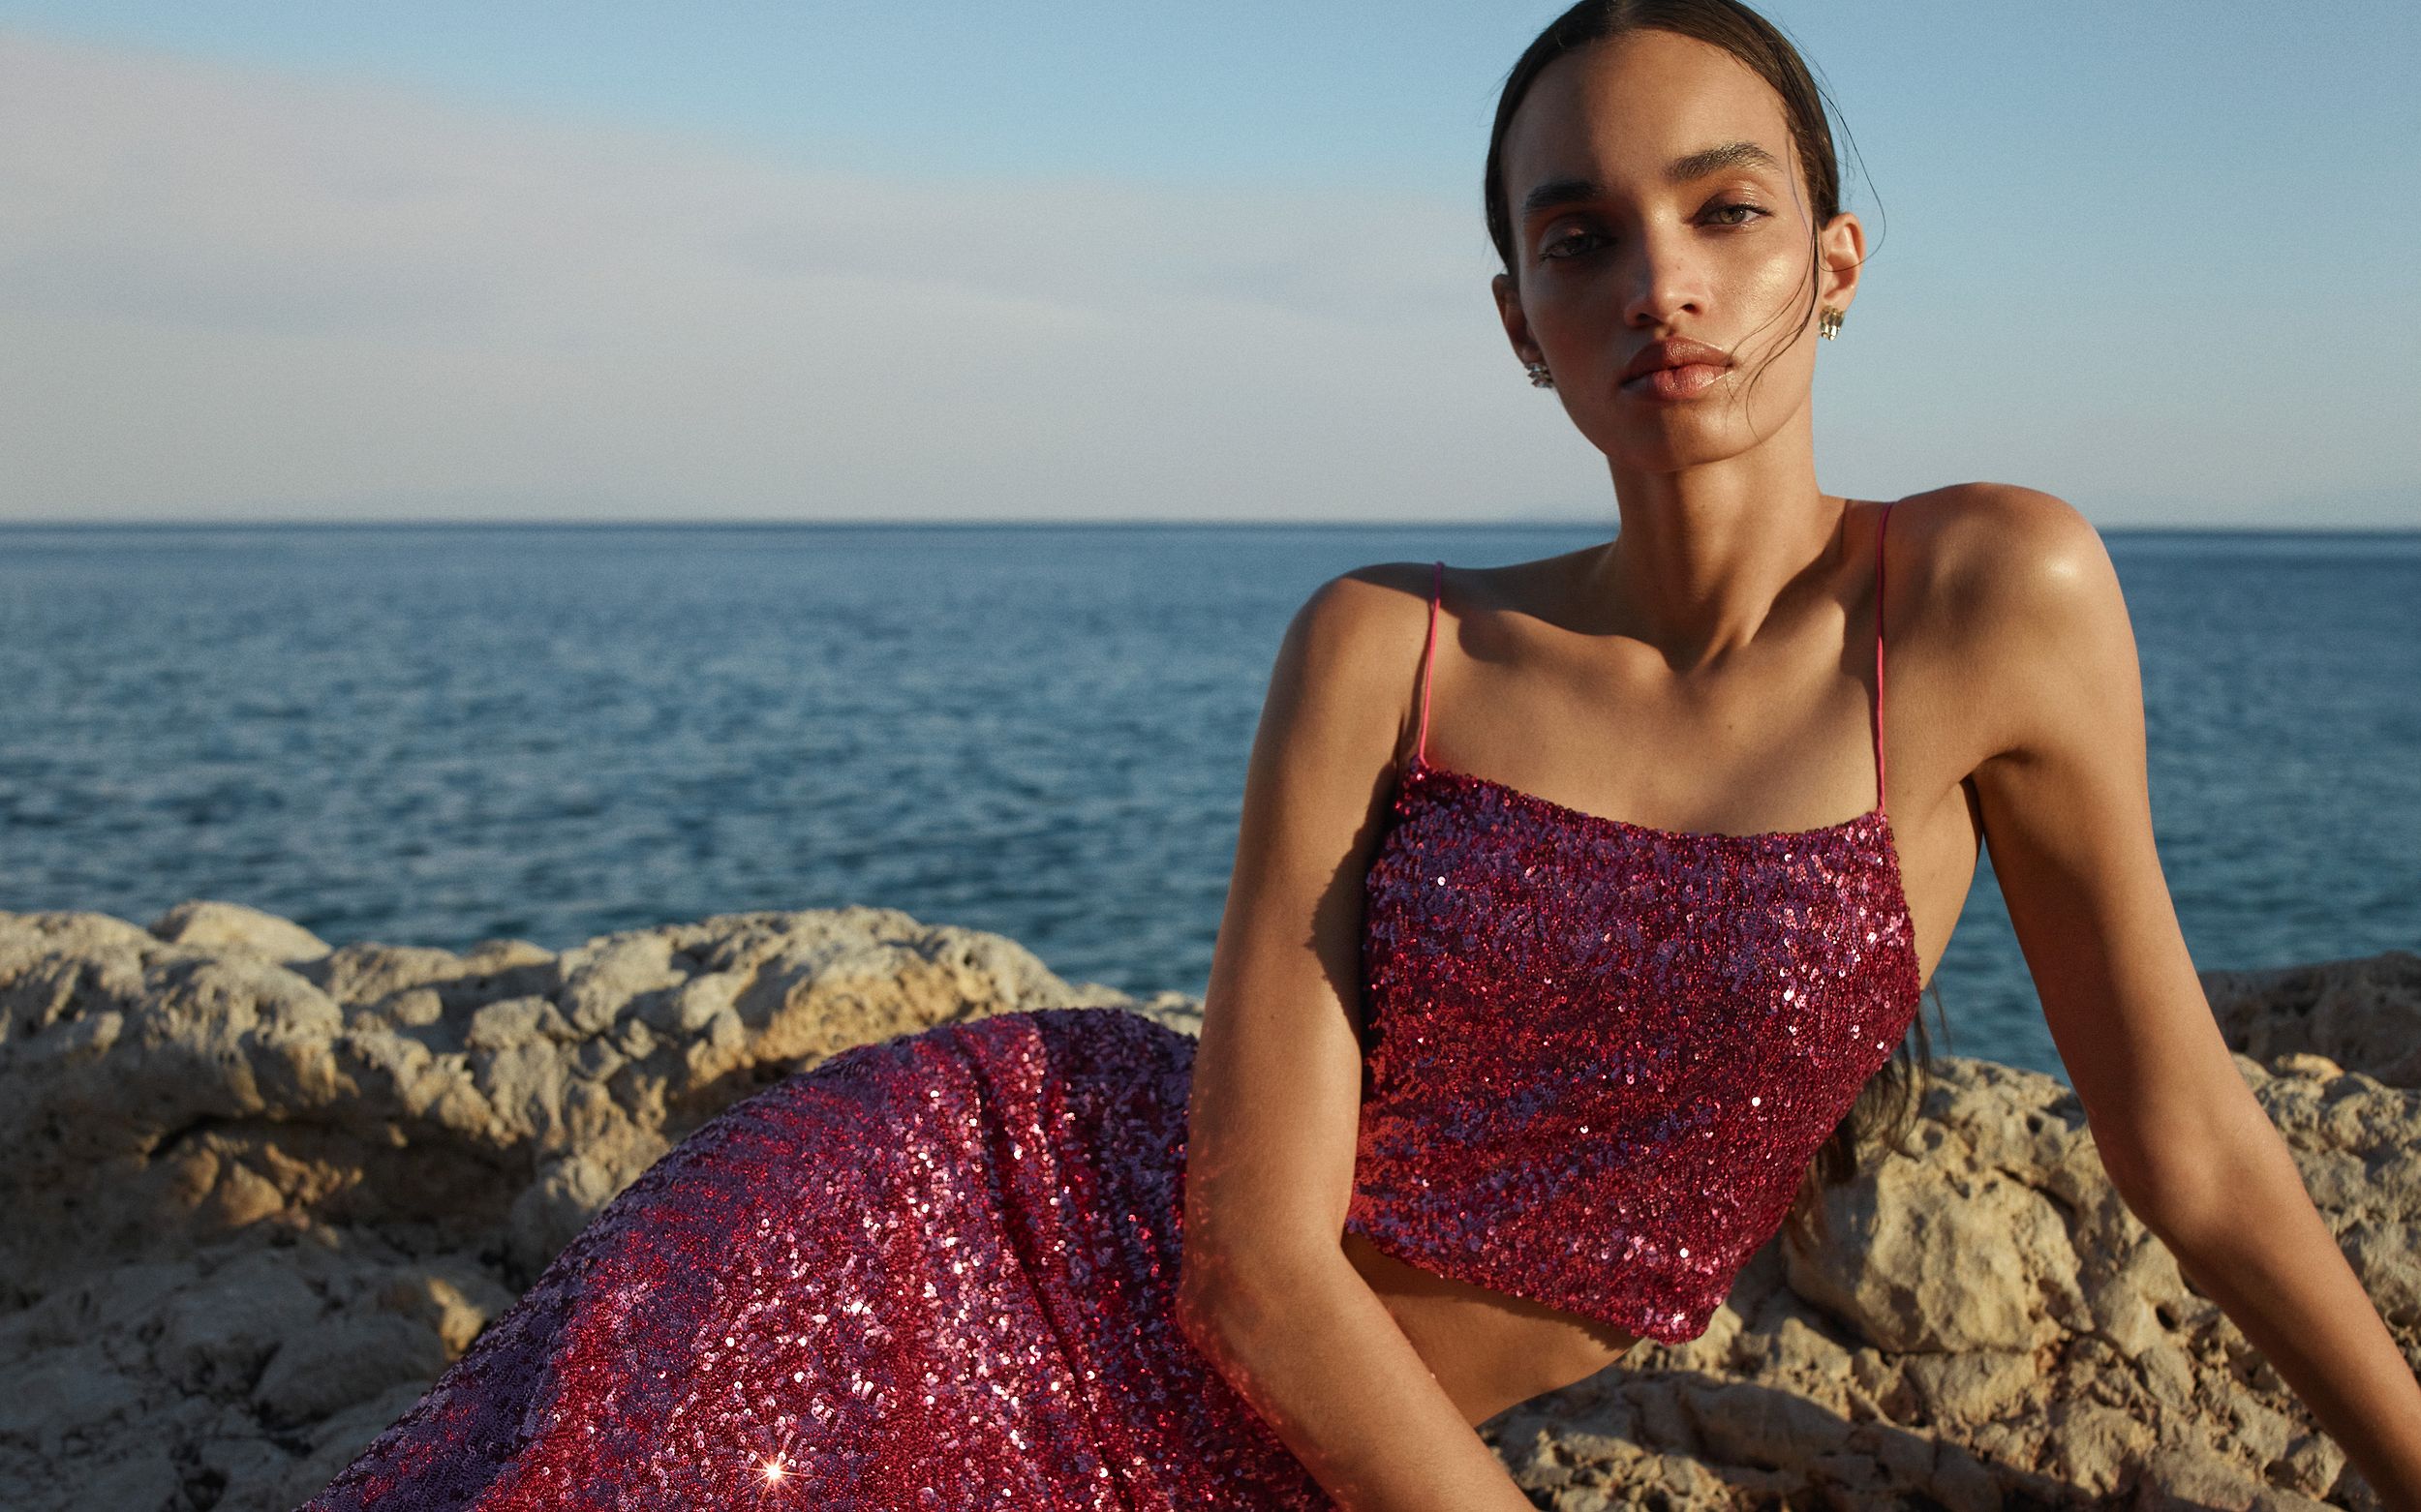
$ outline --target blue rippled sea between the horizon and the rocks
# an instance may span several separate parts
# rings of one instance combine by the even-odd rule
[[[1295,605],[1588,539],[0,527],[0,907],[559,948],[874,902],[1201,992]],[[2196,963],[2421,948],[2421,535],[2106,539]],[[2060,1074],[1990,864],[1934,980],[1949,1050]]]

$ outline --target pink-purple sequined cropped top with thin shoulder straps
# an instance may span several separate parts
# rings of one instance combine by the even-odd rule
[[[1368,1091],[1346,1231],[1661,1343],[1697,1338],[1917,1014],[1884,815],[1712,835],[1428,762],[1363,883]]]

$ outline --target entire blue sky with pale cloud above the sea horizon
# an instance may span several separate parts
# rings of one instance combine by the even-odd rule
[[[1610,525],[1479,220],[1557,10],[0,0],[0,520]],[[2421,527],[2421,7],[1765,12],[1821,486]]]

